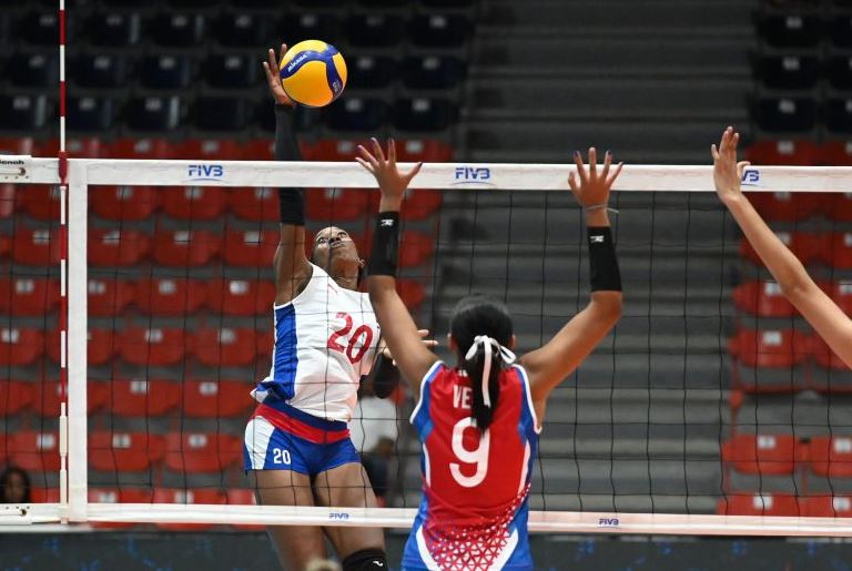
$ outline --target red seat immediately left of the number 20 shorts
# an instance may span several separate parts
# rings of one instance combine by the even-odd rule
[[[165,467],[181,473],[220,473],[242,458],[243,440],[214,432],[180,432],[165,437]]]

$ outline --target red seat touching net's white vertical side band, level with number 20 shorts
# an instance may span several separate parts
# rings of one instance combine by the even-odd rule
[[[89,467],[104,472],[142,472],[163,457],[163,437],[150,432],[89,432]]]

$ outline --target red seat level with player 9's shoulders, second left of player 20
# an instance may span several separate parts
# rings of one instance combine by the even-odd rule
[[[180,405],[181,390],[181,384],[171,380],[113,380],[110,410],[120,417],[164,416]]]

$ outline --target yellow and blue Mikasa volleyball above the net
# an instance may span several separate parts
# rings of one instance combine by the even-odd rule
[[[308,108],[322,108],[343,93],[346,61],[331,43],[305,40],[281,59],[280,75],[290,99]]]

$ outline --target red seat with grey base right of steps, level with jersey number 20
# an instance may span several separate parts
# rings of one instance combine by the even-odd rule
[[[810,341],[802,332],[741,329],[729,350],[733,385],[746,392],[792,392],[804,386]]]

